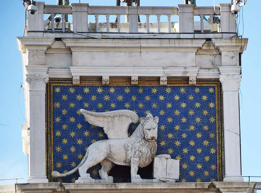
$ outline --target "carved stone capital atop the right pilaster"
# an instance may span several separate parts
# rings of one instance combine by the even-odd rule
[[[219,75],[224,91],[238,91],[241,82],[241,75]]]

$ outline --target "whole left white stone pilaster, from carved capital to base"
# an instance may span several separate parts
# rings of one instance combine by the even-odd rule
[[[47,183],[45,94],[48,74],[27,74],[30,106],[30,148],[28,183]]]

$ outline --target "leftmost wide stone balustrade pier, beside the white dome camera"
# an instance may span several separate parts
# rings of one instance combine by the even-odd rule
[[[44,2],[34,2],[37,7],[35,14],[27,12],[28,15],[28,31],[40,31],[44,30],[43,28],[43,12],[44,12]]]

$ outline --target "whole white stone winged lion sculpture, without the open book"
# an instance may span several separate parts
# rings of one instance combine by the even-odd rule
[[[156,155],[159,118],[148,114],[147,117],[139,119],[131,110],[96,113],[81,109],[81,113],[90,124],[103,127],[109,139],[91,144],[76,168],[63,174],[53,171],[53,177],[65,177],[78,170],[80,177],[76,183],[86,183],[85,179],[92,179],[90,174],[86,173],[87,170],[100,163],[102,166],[99,171],[100,177],[112,183],[113,177],[108,174],[114,164],[118,164],[131,166],[131,182],[140,182],[138,167],[143,168],[151,164]],[[139,120],[140,124],[128,137],[130,124],[136,124]],[[170,158],[167,154],[165,156]]]

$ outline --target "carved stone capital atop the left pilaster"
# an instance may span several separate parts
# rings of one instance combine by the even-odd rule
[[[48,74],[26,74],[25,81],[29,83],[29,90],[45,91],[49,77]]]

